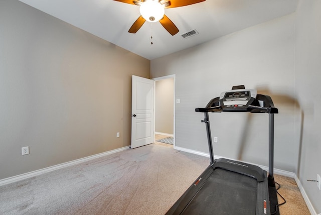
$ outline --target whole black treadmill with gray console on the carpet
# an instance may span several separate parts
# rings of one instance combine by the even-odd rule
[[[257,94],[244,85],[222,92],[204,108],[210,166],[195,180],[166,213],[169,214],[279,214],[273,177],[274,114],[278,113],[268,95]],[[269,116],[269,172],[258,166],[220,158],[214,160],[209,112],[267,113]]]

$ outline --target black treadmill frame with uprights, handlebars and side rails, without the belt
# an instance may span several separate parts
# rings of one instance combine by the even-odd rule
[[[232,88],[232,92],[244,91],[246,90],[243,85],[234,86]],[[247,89],[248,90],[248,89]],[[226,91],[226,92],[231,92]],[[226,94],[226,92],[224,92]],[[278,210],[278,202],[276,195],[276,188],[273,176],[273,168],[274,168],[274,114],[278,113],[276,107],[274,107],[273,101],[268,95],[261,95],[252,93],[249,94],[255,95],[255,97],[247,96],[248,103],[244,105],[244,102],[238,107],[237,105],[230,105],[231,102],[228,103],[229,106],[224,105],[223,98],[224,94],[220,97],[213,98],[205,108],[197,108],[196,112],[204,113],[204,120],[201,122],[206,124],[206,132],[209,146],[209,154],[210,154],[210,166],[201,174],[201,176],[190,186],[188,190],[179,198],[179,200],[172,206],[172,208],[166,214],[188,214],[188,205],[191,204],[195,196],[198,194],[199,190],[202,189],[204,184],[206,183],[208,177],[214,172],[216,168],[225,169],[228,171],[240,173],[243,175],[247,175],[249,177],[255,178],[259,184],[258,192],[262,192],[267,195],[269,204],[266,200],[259,200],[259,196],[257,196],[257,207],[264,208],[256,208],[256,214],[276,214],[279,215]],[[241,95],[241,94],[240,94]],[[232,99],[233,100],[233,99]],[[237,100],[237,99],[236,99]],[[209,112],[250,112],[250,113],[268,113],[269,114],[269,171],[268,175],[261,168],[242,163],[239,161],[231,161],[227,159],[214,159],[213,152],[213,143],[211,136],[211,128],[210,128],[210,120],[209,120]],[[231,163],[235,163],[235,166],[229,166]],[[246,168],[242,168],[242,166],[246,166]],[[263,179],[262,179],[263,178]],[[260,184],[261,182],[261,184]],[[268,190],[268,191],[267,191]],[[268,193],[266,193],[268,192]],[[264,199],[264,198],[263,198]],[[194,206],[195,209],[195,206]]]

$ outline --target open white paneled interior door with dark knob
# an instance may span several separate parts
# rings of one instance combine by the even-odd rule
[[[153,143],[154,81],[133,75],[131,97],[131,148]]]

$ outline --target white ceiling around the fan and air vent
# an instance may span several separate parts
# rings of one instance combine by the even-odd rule
[[[165,9],[180,32],[170,35],[157,22],[128,33],[139,7],[113,0],[20,0],[73,26],[149,60],[295,12],[298,0],[207,0]],[[177,0],[182,1],[182,0]],[[181,35],[196,29],[199,34]],[[152,35],[152,42],[150,36]]]

